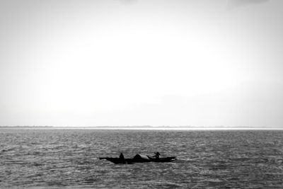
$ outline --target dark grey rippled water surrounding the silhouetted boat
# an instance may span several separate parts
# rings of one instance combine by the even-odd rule
[[[0,188],[283,188],[283,131],[0,129]]]

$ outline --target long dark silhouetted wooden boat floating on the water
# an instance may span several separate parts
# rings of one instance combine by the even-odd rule
[[[122,159],[122,158],[113,158],[113,157],[100,157],[99,159],[106,159],[111,161],[113,164],[134,164],[134,163],[147,163],[147,162],[171,162],[175,161],[175,156],[169,157],[151,157],[151,156],[144,156],[141,154],[137,154],[132,159]]]

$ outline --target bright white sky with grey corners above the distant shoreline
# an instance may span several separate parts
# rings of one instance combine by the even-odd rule
[[[0,0],[0,125],[283,127],[281,0]]]

